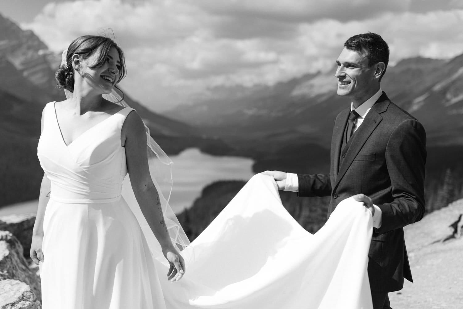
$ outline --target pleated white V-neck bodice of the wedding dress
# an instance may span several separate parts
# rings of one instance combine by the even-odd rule
[[[106,203],[120,198],[127,174],[120,132],[125,107],[66,145],[56,118],[55,102],[45,106],[38,142],[40,165],[51,182],[50,197],[63,203]]]

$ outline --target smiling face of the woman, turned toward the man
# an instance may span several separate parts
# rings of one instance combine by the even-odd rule
[[[91,68],[97,63],[99,51],[85,59],[81,66],[81,76],[83,81],[95,90],[100,90],[102,94],[109,94],[116,85],[120,76],[120,59],[116,48],[112,47],[106,57],[106,61],[100,67]],[[99,92],[100,92],[99,91]]]

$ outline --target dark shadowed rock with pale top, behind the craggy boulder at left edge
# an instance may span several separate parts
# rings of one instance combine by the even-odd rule
[[[22,254],[26,259],[29,259],[29,251],[31,251],[34,222],[35,214],[9,214],[0,217],[0,231],[13,233],[23,246]]]

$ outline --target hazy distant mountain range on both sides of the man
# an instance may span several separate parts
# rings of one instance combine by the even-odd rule
[[[165,113],[219,137],[310,139],[330,145],[335,116],[349,106],[336,93],[335,67],[254,88],[212,88],[209,98]],[[463,55],[450,60],[411,58],[387,69],[382,89],[425,126],[428,145],[463,145]]]

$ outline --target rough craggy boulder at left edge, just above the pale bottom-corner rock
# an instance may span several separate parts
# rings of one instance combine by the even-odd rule
[[[41,284],[37,274],[29,268],[23,257],[23,247],[11,232],[0,231],[0,283],[7,284],[13,279],[30,286],[36,299],[41,300]],[[4,282],[6,281],[6,282]],[[0,288],[3,296],[3,288]],[[3,307],[0,307],[3,308]],[[13,307],[11,307],[13,308]],[[21,307],[14,307],[21,308]],[[27,307],[28,308],[28,307]]]

